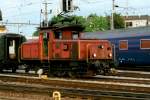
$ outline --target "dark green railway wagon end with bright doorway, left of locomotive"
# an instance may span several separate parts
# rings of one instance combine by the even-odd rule
[[[12,69],[15,72],[19,65],[19,47],[26,38],[21,34],[0,34],[0,71]]]

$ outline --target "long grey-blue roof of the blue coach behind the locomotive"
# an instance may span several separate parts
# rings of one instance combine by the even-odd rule
[[[98,38],[98,39],[138,37],[138,36],[150,36],[150,26],[130,28],[130,29],[120,29],[105,32],[86,32],[81,35],[82,38]]]

